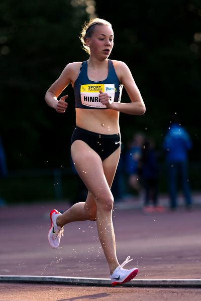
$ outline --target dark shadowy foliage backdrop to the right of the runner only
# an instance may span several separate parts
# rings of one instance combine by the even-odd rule
[[[177,112],[193,139],[193,159],[199,160],[201,1],[124,1],[119,7],[110,1],[107,10],[105,3],[97,2],[96,9],[113,25],[111,58],[128,64],[146,104],[142,117],[121,116],[123,137],[144,130],[161,145],[170,115]]]

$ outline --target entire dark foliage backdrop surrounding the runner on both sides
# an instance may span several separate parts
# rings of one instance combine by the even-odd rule
[[[78,38],[89,18],[86,6],[85,0],[0,3],[0,134],[10,170],[70,165],[72,88],[64,91],[69,109],[62,116],[46,105],[44,95],[67,63],[87,59]],[[144,130],[160,145],[169,115],[177,112],[198,160],[200,0],[129,0],[120,6],[97,1],[96,13],[113,25],[110,58],[128,64],[146,104],[143,116],[121,114],[123,142]],[[122,100],[128,101],[125,91]]]

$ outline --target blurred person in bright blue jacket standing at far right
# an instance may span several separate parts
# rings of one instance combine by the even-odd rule
[[[174,210],[177,207],[177,182],[180,180],[186,208],[191,209],[192,199],[187,165],[188,151],[192,148],[192,142],[176,114],[171,118],[170,126],[164,137],[163,148],[166,152],[170,208]]]

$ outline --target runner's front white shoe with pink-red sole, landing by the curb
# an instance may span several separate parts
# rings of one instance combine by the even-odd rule
[[[131,256],[128,256],[126,258],[126,260],[120,265],[118,266],[113,274],[111,275],[111,281],[112,281],[112,285],[117,285],[117,284],[123,284],[127,281],[130,281],[131,279],[133,279],[137,273],[138,273],[138,268],[134,267],[130,270],[124,269],[123,266],[125,264],[127,264],[128,262],[130,262],[133,259],[130,259]],[[130,259],[130,260],[129,260]]]

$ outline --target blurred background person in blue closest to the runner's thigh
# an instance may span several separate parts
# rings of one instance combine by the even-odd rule
[[[128,188],[131,192],[137,193],[141,198],[142,185],[139,180],[139,161],[142,155],[142,147],[144,145],[145,135],[142,132],[136,132],[132,141],[128,144],[125,154],[125,171],[127,175]]]

